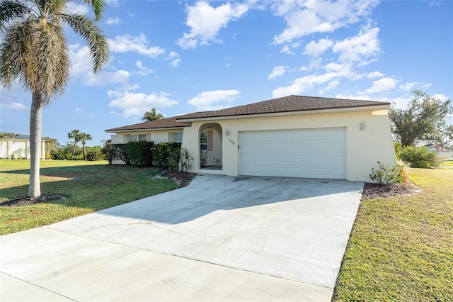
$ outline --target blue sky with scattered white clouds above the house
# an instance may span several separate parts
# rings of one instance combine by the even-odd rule
[[[72,11],[88,13],[84,6]],[[99,26],[110,63],[91,72],[67,31],[71,79],[44,108],[42,135],[108,128],[290,94],[391,101],[453,96],[453,1],[120,1]],[[0,88],[0,131],[28,134],[30,93]],[[449,118],[453,123],[453,118]]]

